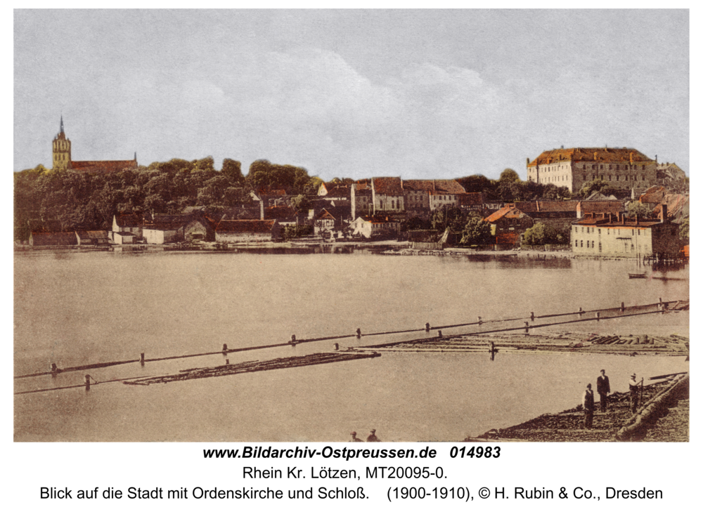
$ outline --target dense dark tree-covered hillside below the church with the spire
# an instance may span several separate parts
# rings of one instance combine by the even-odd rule
[[[212,157],[153,162],[134,170],[91,173],[51,171],[44,166],[15,173],[15,239],[28,239],[28,221],[50,222],[62,230],[110,229],[116,213],[177,214],[186,206],[210,208],[251,201],[259,188],[302,194],[321,180],[302,167],[257,160],[245,177],[241,164],[224,159],[221,171]]]

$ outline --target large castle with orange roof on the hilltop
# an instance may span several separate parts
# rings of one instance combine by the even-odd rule
[[[657,161],[631,147],[562,147],[527,159],[528,181],[579,192],[595,179],[619,188],[646,188],[657,183]]]

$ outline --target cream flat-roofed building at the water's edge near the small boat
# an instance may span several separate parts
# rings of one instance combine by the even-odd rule
[[[621,214],[591,215],[572,225],[574,254],[645,258],[680,251],[678,225],[669,222],[666,205],[659,219],[640,220]]]

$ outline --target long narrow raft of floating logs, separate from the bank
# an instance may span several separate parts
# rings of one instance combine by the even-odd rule
[[[221,377],[252,372],[266,372],[273,369],[299,368],[303,366],[327,365],[330,362],[352,361],[357,359],[368,359],[369,357],[380,357],[379,353],[316,353],[300,355],[294,357],[278,357],[267,361],[247,361],[236,365],[220,365],[205,368],[189,368],[181,370],[177,374],[145,377],[143,379],[133,379],[124,381],[124,384],[131,386],[148,386],[150,384],[167,384],[176,381],[188,381],[191,379],[208,379],[210,377]]]

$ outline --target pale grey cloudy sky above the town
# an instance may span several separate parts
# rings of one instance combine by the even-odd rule
[[[333,177],[527,178],[555,147],[689,173],[687,10],[14,13],[14,171],[212,156]]]

